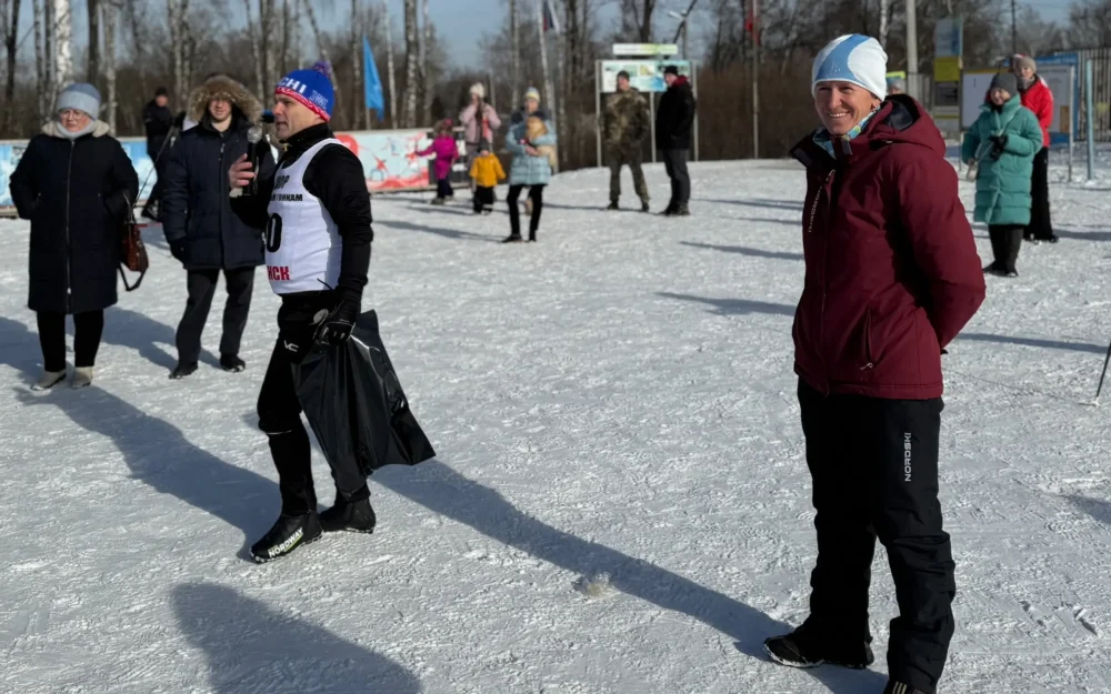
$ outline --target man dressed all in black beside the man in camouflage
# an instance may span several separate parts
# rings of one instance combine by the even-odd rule
[[[655,114],[655,149],[660,150],[663,165],[671,179],[671,202],[663,211],[668,217],[690,214],[691,177],[687,159],[691,149],[691,130],[694,127],[694,93],[685,77],[675,66],[663,69],[668,91],[660,98]]]

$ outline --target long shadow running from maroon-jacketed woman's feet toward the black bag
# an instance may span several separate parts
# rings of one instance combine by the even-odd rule
[[[763,641],[789,631],[759,610],[605,545],[577,537],[520,511],[496,490],[430,461],[413,469],[374,473],[382,486],[483,535],[579,575],[610,574],[622,593],[689,615],[733,638],[738,651],[767,660]],[[878,673],[808,671],[835,694],[879,692]]]

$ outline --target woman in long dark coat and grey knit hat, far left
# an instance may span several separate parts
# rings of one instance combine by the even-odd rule
[[[92,383],[104,309],[117,301],[122,224],[139,175],[107,123],[100,92],[71,84],[58,97],[58,119],[27,145],[11,174],[20,218],[31,221],[30,292],[42,346],[33,390],[66,378],[66,315],[73,315],[73,388]]]

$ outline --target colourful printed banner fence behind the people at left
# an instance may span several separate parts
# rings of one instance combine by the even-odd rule
[[[369,130],[363,132],[340,132],[336,137],[359,158],[366,172],[367,190],[371,192],[426,190],[434,188],[436,181],[429,174],[428,157],[418,157],[417,152],[431,144],[427,130]],[[461,135],[457,135],[461,137]],[[139,191],[139,200],[143,201],[154,188],[156,174],[153,162],[147,155],[147,141],[142,138],[121,138],[120,144],[131,159],[131,164],[139,173],[139,183],[146,185]],[[12,211],[11,191],[8,188],[9,178],[16,171],[26,141],[0,142],[0,211]],[[466,171],[463,155],[466,147],[459,140],[460,161],[456,163],[456,172]],[[162,154],[166,157],[166,154]],[[277,152],[276,152],[277,155]]]

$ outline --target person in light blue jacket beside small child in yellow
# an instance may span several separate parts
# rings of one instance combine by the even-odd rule
[[[524,110],[513,119],[513,124],[506,135],[506,149],[513,154],[509,168],[509,204],[510,234],[504,243],[519,243],[521,238],[521,219],[517,201],[521,191],[529,187],[529,200],[532,201],[532,218],[529,220],[529,241],[537,240],[540,228],[540,212],[544,207],[544,185],[551,180],[552,168],[548,155],[540,148],[556,145],[556,128],[551,119],[540,109],[540,90],[529,88],[524,93]],[[531,128],[530,128],[531,125]]]

